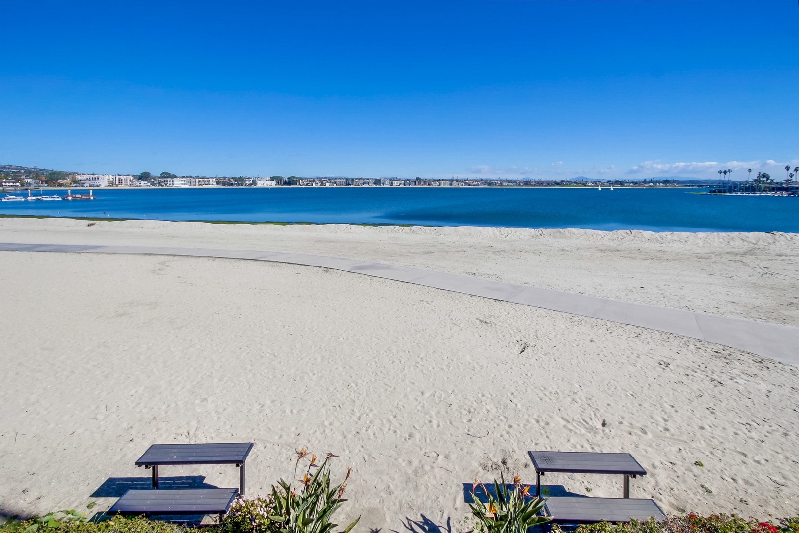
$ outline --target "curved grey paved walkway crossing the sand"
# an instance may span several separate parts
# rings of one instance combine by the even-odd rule
[[[694,339],[737,348],[757,356],[768,357],[786,364],[799,364],[799,328],[779,324],[766,324],[753,320],[706,315],[700,312],[679,311],[607,300],[595,296],[570,294],[548,288],[481,280],[476,277],[431,272],[384,263],[356,261],[344,257],[313,256],[304,253],[257,252],[253,250],[225,250],[201,248],[172,248],[161,246],[90,246],[90,245],[25,245],[0,243],[0,251],[18,252],[89,252],[89,253],[144,253],[192,257],[229,257],[256,261],[275,261],[294,265],[333,268],[404,281],[447,291],[463,292],[494,300],[503,300],[531,307],[590,316],[611,322],[630,324],[641,328],[676,333]]]

